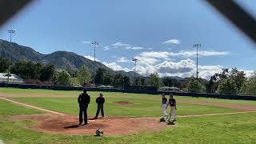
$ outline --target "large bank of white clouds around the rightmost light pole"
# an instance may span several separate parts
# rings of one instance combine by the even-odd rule
[[[226,55],[230,52],[226,51],[198,51],[198,55],[203,56],[218,56]],[[196,64],[190,58],[194,58],[196,51],[181,50],[179,52],[167,51],[144,51],[134,58],[138,59],[137,71],[139,74],[148,76],[154,72],[163,76],[179,76],[182,78],[196,76]],[[172,62],[173,58],[186,58],[179,62]],[[198,66],[198,76],[209,79],[211,75],[222,71],[222,66]]]

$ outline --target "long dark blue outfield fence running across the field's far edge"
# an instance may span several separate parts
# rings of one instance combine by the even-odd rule
[[[0,83],[0,87],[13,87],[22,89],[45,89],[45,90],[83,90],[83,87],[70,87],[70,86],[39,86],[39,85],[26,85],[26,84],[7,84]],[[207,94],[207,93],[187,93],[187,92],[163,92],[158,90],[133,90],[133,89],[118,89],[118,88],[86,88],[88,91],[107,91],[107,92],[122,92],[122,93],[136,93],[136,94],[174,94],[178,96],[189,96],[195,98],[222,98],[222,99],[237,99],[237,100],[253,100],[256,101],[254,96],[242,95],[227,95],[227,94]],[[1,93],[1,91],[0,91]]]

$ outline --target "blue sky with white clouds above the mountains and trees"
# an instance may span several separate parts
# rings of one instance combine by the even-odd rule
[[[250,0],[237,0],[256,15]],[[16,31],[13,42],[42,54],[66,50],[94,58],[92,41],[99,42],[96,58],[113,70],[154,72],[182,78],[209,79],[222,68],[237,67],[250,76],[256,70],[256,47],[249,38],[199,0],[44,0],[27,6],[0,28]]]

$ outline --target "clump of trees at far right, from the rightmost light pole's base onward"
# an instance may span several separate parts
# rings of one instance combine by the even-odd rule
[[[245,72],[237,68],[223,69],[211,76],[209,82],[190,78],[186,89],[193,93],[256,95],[256,73],[249,78],[245,76]]]

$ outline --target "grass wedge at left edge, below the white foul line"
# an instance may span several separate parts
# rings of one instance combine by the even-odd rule
[[[0,116],[2,115],[18,115],[18,114],[41,114],[41,111],[18,106],[12,102],[0,99]]]

